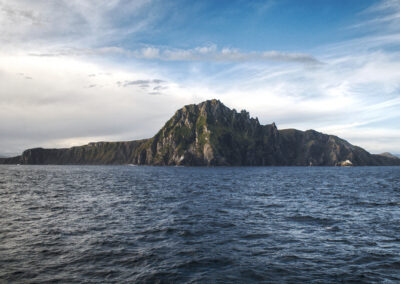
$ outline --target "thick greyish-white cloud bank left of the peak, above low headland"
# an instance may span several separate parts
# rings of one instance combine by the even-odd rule
[[[60,68],[62,66],[62,68]],[[40,74],[21,84],[23,74]],[[173,91],[165,96],[140,88],[120,88],[120,82],[166,80],[154,70],[122,71],[79,58],[10,56],[0,53],[0,149],[20,153],[31,147],[69,147],[100,140],[151,137],[181,104],[193,101]],[[104,74],[88,77],[87,74]],[[102,86],[98,88],[99,84]],[[152,89],[151,89],[152,90]],[[169,89],[168,89],[169,90]],[[149,95],[150,93],[150,95]],[[177,92],[179,93],[179,92]],[[156,98],[157,97],[157,98]]]

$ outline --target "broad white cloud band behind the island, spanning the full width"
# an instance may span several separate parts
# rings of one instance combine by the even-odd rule
[[[327,54],[318,72],[296,64],[240,62],[210,74],[204,65],[180,82],[171,69],[168,74],[142,67],[126,71],[124,65],[71,56],[0,57],[0,120],[7,121],[0,126],[0,147],[11,152],[151,137],[176,109],[211,98],[247,109],[261,123],[275,121],[280,129],[314,128],[373,152],[400,152],[393,143],[379,146],[362,136],[374,123],[400,120],[396,54]],[[21,84],[26,74],[41,76]],[[394,137],[371,133],[376,141]]]

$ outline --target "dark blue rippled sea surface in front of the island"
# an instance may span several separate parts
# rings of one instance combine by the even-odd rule
[[[400,167],[0,166],[0,283],[399,283]]]

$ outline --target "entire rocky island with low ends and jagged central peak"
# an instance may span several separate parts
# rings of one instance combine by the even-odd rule
[[[355,166],[400,165],[400,159],[371,155],[336,136],[261,125],[246,111],[210,100],[178,110],[150,139],[35,148],[0,163],[335,166],[346,160]]]

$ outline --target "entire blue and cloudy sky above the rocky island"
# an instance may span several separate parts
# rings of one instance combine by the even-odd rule
[[[400,153],[400,0],[0,0],[0,156],[149,138],[213,98]]]

